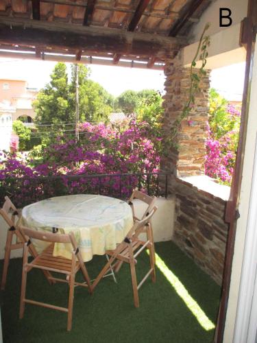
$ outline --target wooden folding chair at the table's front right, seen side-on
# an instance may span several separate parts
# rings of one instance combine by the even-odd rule
[[[151,217],[154,215],[157,207],[154,206],[151,209],[151,212],[145,216],[143,220],[139,222],[135,222],[135,224],[130,229],[129,233],[125,239],[117,246],[115,250],[107,250],[106,254],[110,256],[108,263],[103,267],[95,281],[93,282],[93,289],[97,286],[99,281],[103,278],[103,276],[110,270],[112,263],[116,261],[119,263],[120,261],[129,263],[130,264],[130,272],[132,278],[132,289],[134,295],[134,305],[135,307],[139,307],[139,298],[138,298],[138,289],[143,285],[146,281],[147,277],[151,275],[151,281],[156,282],[156,272],[155,272],[155,252],[154,252],[154,239],[153,239],[153,232],[151,227]],[[146,232],[147,233],[147,241],[141,241],[138,238],[140,233]],[[150,270],[145,274],[142,281],[137,283],[136,281],[136,257],[143,252],[143,250],[147,248],[149,249],[149,259],[150,259]]]

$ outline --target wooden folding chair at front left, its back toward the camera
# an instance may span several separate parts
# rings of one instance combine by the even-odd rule
[[[69,235],[63,235],[58,233],[43,233],[36,230],[31,230],[21,226],[19,228],[21,233],[28,237],[28,241],[24,244],[23,250],[23,273],[22,273],[22,283],[21,283],[21,306],[20,306],[20,318],[23,318],[25,311],[25,303],[32,305],[39,305],[42,307],[49,307],[50,309],[57,309],[59,311],[64,311],[68,313],[67,321],[67,331],[71,330],[72,326],[72,315],[73,315],[73,296],[74,296],[74,286],[80,285],[88,287],[88,292],[91,294],[93,288],[90,284],[90,278],[88,272],[82,260],[82,255],[77,247],[77,242],[75,240],[74,234],[69,233]],[[28,262],[28,251],[29,246],[32,244],[32,239],[38,239],[40,241],[49,242],[49,246],[45,248],[32,262]],[[65,257],[53,257],[53,247],[55,243],[71,244],[71,259],[66,259]],[[61,274],[66,274],[66,279],[58,279],[51,276],[52,281],[69,283],[69,304],[68,307],[59,307],[56,305],[51,305],[47,303],[41,303],[39,301],[30,300],[25,298],[26,292],[26,281],[27,272],[32,270],[32,268],[38,268],[40,270],[47,270],[48,272],[58,272]],[[82,274],[86,283],[75,282],[75,275],[79,270],[82,270]]]

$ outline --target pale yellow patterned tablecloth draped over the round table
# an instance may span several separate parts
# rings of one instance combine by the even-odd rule
[[[133,216],[130,205],[108,196],[80,194],[60,196],[25,206],[21,224],[35,230],[60,233],[73,231],[84,261],[93,255],[104,255],[113,250],[132,228]],[[42,250],[42,245],[34,245]],[[53,256],[71,258],[71,247],[55,244]]]

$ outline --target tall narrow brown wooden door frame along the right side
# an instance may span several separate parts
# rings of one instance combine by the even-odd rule
[[[232,261],[234,255],[234,241],[236,237],[236,221],[240,216],[238,213],[238,201],[241,191],[241,180],[243,172],[243,156],[245,152],[245,139],[247,132],[247,119],[249,112],[249,92],[252,82],[252,64],[254,57],[254,45],[256,38],[257,23],[257,1],[248,1],[247,17],[243,19],[241,25],[241,45],[247,49],[245,63],[245,82],[243,88],[243,102],[241,111],[241,126],[239,132],[238,150],[236,154],[236,165],[232,179],[230,199],[225,211],[225,222],[229,224],[228,241],[225,251],[225,265],[223,270],[223,283],[221,286],[221,303],[215,331],[215,343],[223,342],[225,329],[225,316],[228,308],[228,297],[230,292],[230,279],[232,271]]]

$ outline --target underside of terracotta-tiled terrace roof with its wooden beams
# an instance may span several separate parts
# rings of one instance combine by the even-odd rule
[[[101,64],[129,60],[131,67],[160,69],[167,54],[187,44],[211,1],[1,1],[0,56],[26,51],[25,58],[62,54],[73,62],[97,57]]]

